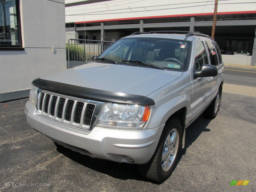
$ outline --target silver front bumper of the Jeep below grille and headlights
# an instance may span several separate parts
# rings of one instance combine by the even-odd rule
[[[115,162],[147,163],[156,150],[164,128],[162,125],[146,130],[120,130],[95,126],[91,132],[87,132],[44,118],[29,101],[25,112],[30,127],[57,143],[91,157]]]

